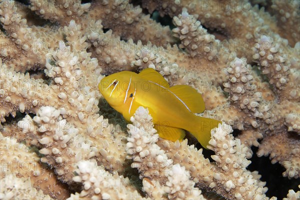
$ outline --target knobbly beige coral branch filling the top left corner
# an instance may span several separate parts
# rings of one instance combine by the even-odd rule
[[[18,6],[22,6],[17,4]],[[39,64],[45,63],[45,54],[54,46],[56,39],[62,39],[62,34],[55,34],[55,38],[44,38],[41,33],[32,31],[25,18],[18,13],[13,0],[4,0],[0,3],[0,21],[7,35],[1,34],[0,55],[3,61],[16,71],[24,72],[27,69],[36,69]],[[53,33],[49,31],[48,33]],[[51,34],[49,34],[51,35]]]

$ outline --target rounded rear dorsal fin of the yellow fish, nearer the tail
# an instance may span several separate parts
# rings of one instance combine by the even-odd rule
[[[205,110],[202,95],[196,89],[188,85],[175,85],[169,88],[193,113],[201,113]]]

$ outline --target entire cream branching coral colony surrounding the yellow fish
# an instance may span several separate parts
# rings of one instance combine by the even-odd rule
[[[251,146],[286,169],[274,178],[298,181],[299,1],[263,2],[267,11],[235,0],[138,3],[0,1],[0,198],[269,199],[246,168]],[[176,27],[144,14],[154,10]],[[223,121],[211,130],[213,160],[186,139],[158,138],[147,108],[127,131],[103,117],[103,74],[146,67],[196,88],[201,115]],[[285,199],[297,198],[291,189]]]

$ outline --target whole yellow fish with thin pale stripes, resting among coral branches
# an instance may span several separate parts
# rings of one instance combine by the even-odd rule
[[[121,71],[101,79],[99,91],[106,101],[130,121],[139,106],[147,107],[160,137],[182,140],[187,130],[206,148],[210,130],[220,121],[194,113],[205,109],[201,94],[188,85],[170,87],[152,68],[140,73]]]

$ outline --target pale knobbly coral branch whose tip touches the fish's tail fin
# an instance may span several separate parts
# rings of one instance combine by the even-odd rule
[[[241,144],[239,139],[233,139],[230,132],[231,126],[224,123],[211,130],[211,139],[207,147],[215,152],[211,158],[216,162],[216,171],[222,171],[214,172],[213,179],[222,184],[226,191],[234,194],[236,199],[265,198],[265,182],[258,181],[246,170],[251,163],[245,156],[247,147]],[[232,179],[226,180],[228,176]],[[209,186],[214,187],[217,184],[212,183]],[[248,192],[245,192],[247,190]]]

